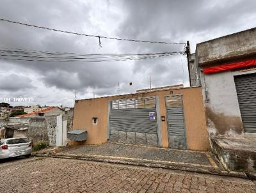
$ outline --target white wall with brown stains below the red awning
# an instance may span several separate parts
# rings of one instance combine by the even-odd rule
[[[247,73],[256,73],[256,70],[227,71],[209,75],[200,73],[210,135],[243,137],[243,123],[234,76]]]

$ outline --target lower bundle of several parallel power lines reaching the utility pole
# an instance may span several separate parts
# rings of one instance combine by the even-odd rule
[[[0,49],[0,59],[12,59],[20,61],[55,61],[55,62],[106,62],[129,61],[139,59],[163,58],[184,54],[184,52],[161,52],[146,54],[78,54],[70,52],[48,52],[26,49]]]

